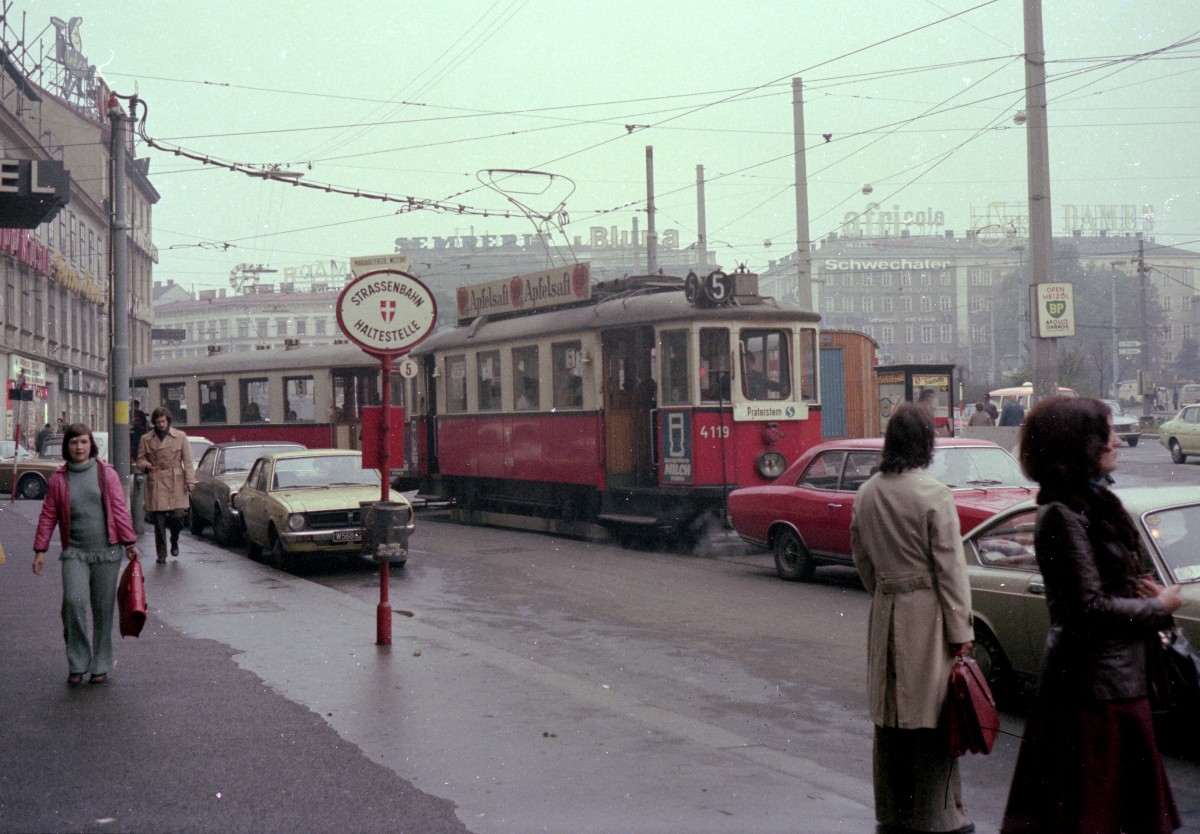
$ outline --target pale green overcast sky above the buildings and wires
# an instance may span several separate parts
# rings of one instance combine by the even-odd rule
[[[1198,37],[1200,4],[1045,5],[1054,204],[1150,205],[1160,242],[1200,246],[1200,44],[1112,62]],[[17,0],[11,14],[22,12],[30,34],[82,16],[84,53],[145,100],[156,139],[488,210],[508,206],[476,172],[548,170],[574,182],[566,232],[584,240],[592,226],[630,228],[638,210],[646,228],[653,145],[660,230],[695,239],[703,164],[722,262],[761,269],[792,252],[793,76],[806,85],[814,239],[865,208],[864,184],[884,208],[942,212],[959,234],[972,208],[1026,196],[1025,132],[1012,121],[1024,106],[1019,0]],[[283,269],[386,252],[395,238],[533,232],[524,218],[396,215],[138,154],[162,193],[156,277],[197,288],[228,286],[239,263]],[[565,193],[530,202],[550,209]],[[1061,209],[1054,217],[1058,232]]]

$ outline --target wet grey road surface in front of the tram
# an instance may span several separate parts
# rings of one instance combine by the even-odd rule
[[[1144,443],[1118,474],[1200,484],[1200,464],[1163,460]],[[280,572],[186,533],[178,564],[150,566],[151,622],[220,647],[260,708],[316,716],[314,738],[377,766],[385,784],[452,802],[479,834],[872,830],[868,599],[852,571],[787,583],[731,538],[686,556],[430,516],[412,545],[392,574],[391,647],[373,644],[370,563]],[[118,660],[131,677],[162,665],[121,643]],[[155,674],[158,698],[188,685]],[[997,829],[1020,715],[1004,730],[991,756],[964,763],[979,832]],[[175,739],[181,774],[204,761],[190,755],[202,738]],[[337,784],[324,762],[310,767],[312,785]],[[1200,832],[1200,768],[1172,758],[1169,770],[1184,830]],[[155,796],[152,773],[128,778]],[[318,798],[305,785],[289,791],[300,809]]]

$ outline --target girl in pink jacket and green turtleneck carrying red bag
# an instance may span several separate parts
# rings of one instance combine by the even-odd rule
[[[62,634],[67,643],[67,684],[77,686],[91,672],[100,684],[113,670],[113,608],[121,551],[138,556],[125,491],[116,470],[98,458],[91,428],[76,422],[62,436],[66,463],[50,474],[34,534],[34,572],[46,568],[54,528],[62,541]],[[91,641],[88,602],[91,601]]]

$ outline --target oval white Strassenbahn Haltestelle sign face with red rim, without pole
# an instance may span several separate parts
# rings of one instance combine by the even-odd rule
[[[370,354],[398,356],[433,332],[438,304],[408,272],[380,269],[346,284],[337,296],[337,325]]]

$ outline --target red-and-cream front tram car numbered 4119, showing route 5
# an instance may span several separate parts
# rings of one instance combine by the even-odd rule
[[[409,356],[415,449],[401,487],[622,538],[724,524],[730,491],[769,482],[822,439],[818,322],[760,296],[756,276],[724,272],[461,318]]]

